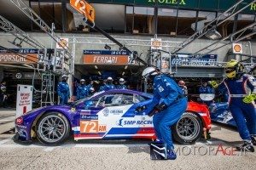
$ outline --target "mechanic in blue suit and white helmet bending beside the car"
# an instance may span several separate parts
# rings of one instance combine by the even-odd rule
[[[172,143],[171,126],[175,124],[187,109],[187,98],[181,88],[169,77],[154,67],[143,71],[143,77],[154,77],[154,98],[146,108],[157,111],[153,124],[157,138],[166,144],[167,159],[176,159]]]

